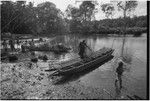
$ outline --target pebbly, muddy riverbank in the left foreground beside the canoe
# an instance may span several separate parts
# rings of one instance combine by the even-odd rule
[[[102,99],[100,90],[86,87],[80,80],[56,84],[62,77],[50,77],[44,71],[48,63],[30,64],[2,63],[1,99]]]

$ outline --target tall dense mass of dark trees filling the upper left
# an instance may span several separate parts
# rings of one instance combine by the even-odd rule
[[[63,33],[63,13],[51,2],[37,7],[25,1],[1,2],[1,32],[19,34]]]

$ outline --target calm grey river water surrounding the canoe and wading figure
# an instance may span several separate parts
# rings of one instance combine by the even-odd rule
[[[70,58],[78,56],[78,45],[82,40],[86,40],[87,45],[93,51],[102,47],[110,47],[115,49],[114,58],[111,61],[99,66],[95,70],[80,76],[78,80],[86,86],[101,88],[104,91],[104,96],[107,98],[125,97],[126,95],[137,95],[141,98],[146,98],[147,91],[147,38],[146,36],[132,37],[128,36],[125,42],[124,53],[130,57],[130,64],[127,66],[123,74],[123,89],[118,91],[115,85],[115,68],[117,67],[116,58],[121,54],[122,37],[104,37],[99,35],[63,35],[57,36],[50,44],[62,43],[73,50],[65,54],[53,54],[51,52],[37,52],[37,54],[46,54],[49,58],[66,61]],[[91,54],[87,51],[87,54]],[[118,93],[119,92],[119,93]]]

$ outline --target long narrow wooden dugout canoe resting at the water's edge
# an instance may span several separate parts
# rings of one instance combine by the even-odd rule
[[[93,66],[109,59],[112,56],[114,49],[111,48],[102,48],[94,52],[89,58],[85,60],[78,61],[76,63],[70,64],[68,66],[57,69],[52,76],[57,75],[69,75],[83,70],[92,68]]]

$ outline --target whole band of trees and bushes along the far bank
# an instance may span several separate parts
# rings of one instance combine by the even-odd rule
[[[126,34],[140,35],[147,31],[147,16],[95,20],[93,17],[95,4],[90,1],[83,2],[80,8],[68,5],[65,12],[67,16],[52,2],[34,6],[32,2],[1,1],[0,6],[1,33],[107,35],[126,32]],[[124,31],[124,26],[126,26],[126,31]]]

